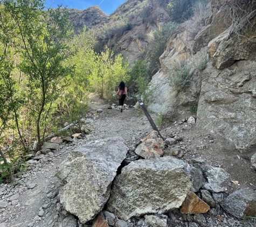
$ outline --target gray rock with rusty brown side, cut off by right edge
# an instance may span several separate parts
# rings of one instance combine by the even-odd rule
[[[227,196],[221,205],[236,217],[255,217],[256,193],[250,189],[240,189],[234,191]]]

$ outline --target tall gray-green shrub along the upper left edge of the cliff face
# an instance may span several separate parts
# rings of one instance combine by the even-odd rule
[[[171,30],[176,26],[176,23],[170,22],[149,33],[146,58],[149,61],[149,70],[151,74],[155,74],[161,68],[159,58],[164,52],[164,47],[170,36]]]

